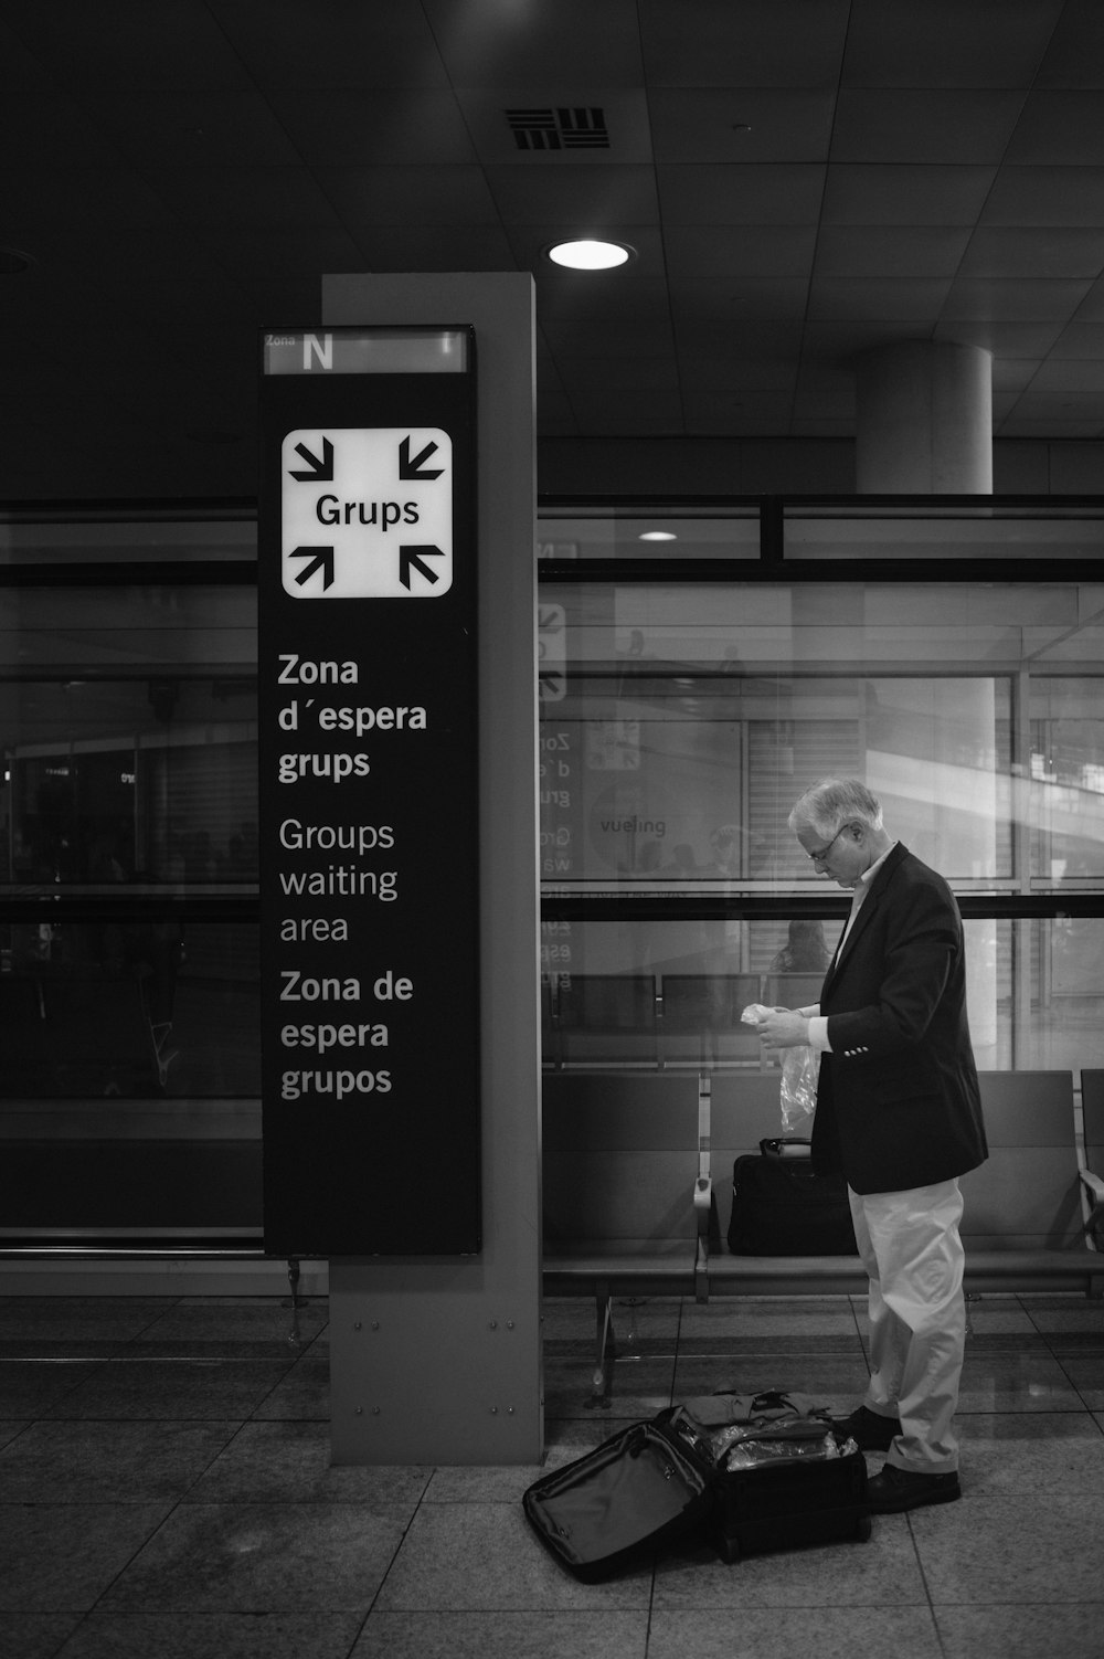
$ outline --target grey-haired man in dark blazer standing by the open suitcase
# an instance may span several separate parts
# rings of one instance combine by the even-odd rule
[[[789,826],[814,869],[852,889],[819,1005],[759,1025],[769,1050],[821,1050],[812,1160],[847,1180],[870,1279],[870,1384],[840,1427],[887,1453],[875,1511],[948,1503],[966,1329],[958,1176],[986,1156],[961,916],[859,780],[814,783]]]

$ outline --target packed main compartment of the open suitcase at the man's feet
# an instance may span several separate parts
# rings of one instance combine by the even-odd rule
[[[709,1513],[721,1559],[870,1536],[867,1462],[854,1442],[840,1448],[821,1418],[797,1415],[736,1433],[718,1452]]]

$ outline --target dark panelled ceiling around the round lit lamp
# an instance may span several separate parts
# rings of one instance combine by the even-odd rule
[[[0,138],[7,499],[254,494],[323,272],[534,272],[547,438],[849,436],[902,338],[1104,435],[1101,0],[0,0]]]

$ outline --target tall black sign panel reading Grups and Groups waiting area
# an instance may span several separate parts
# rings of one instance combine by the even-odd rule
[[[474,484],[469,328],[265,337],[270,1253],[479,1249]]]

